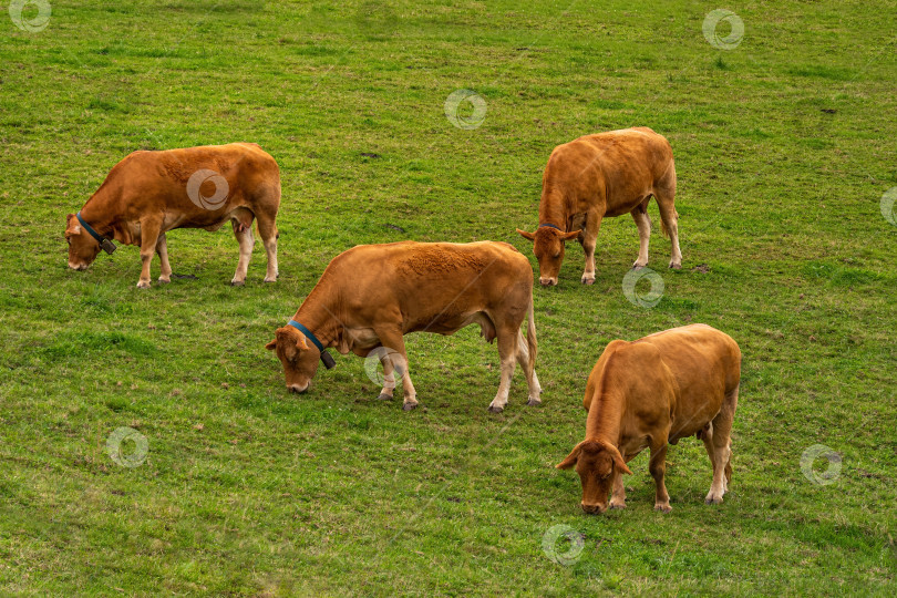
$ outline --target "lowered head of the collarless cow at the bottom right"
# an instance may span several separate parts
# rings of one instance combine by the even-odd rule
[[[586,440],[577,444],[567,458],[555,465],[558,470],[569,470],[576,465],[576,473],[582,483],[580,505],[586,513],[607,511],[608,494],[614,485],[615,471],[631,474],[616,446],[609,442]]]

